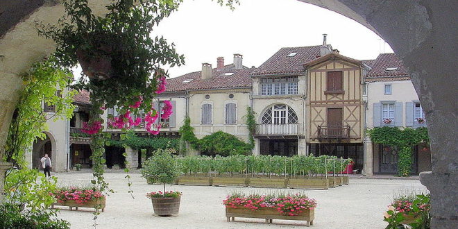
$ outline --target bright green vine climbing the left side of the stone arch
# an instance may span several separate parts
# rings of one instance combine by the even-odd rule
[[[70,119],[73,115],[73,96],[76,92],[58,94],[58,88],[64,91],[73,75],[68,69],[56,64],[56,58],[49,58],[33,64],[31,70],[23,76],[24,90],[19,94],[15,114],[13,115],[5,158],[19,167],[24,167],[24,153],[38,137],[45,139],[46,121],[50,119]],[[56,112],[45,112],[42,102],[52,104]]]

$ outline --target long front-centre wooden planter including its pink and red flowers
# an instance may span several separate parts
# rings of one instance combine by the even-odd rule
[[[295,195],[250,195],[232,194],[223,201],[226,205],[228,221],[235,217],[265,219],[272,223],[273,219],[307,221],[313,225],[316,201],[302,194]]]

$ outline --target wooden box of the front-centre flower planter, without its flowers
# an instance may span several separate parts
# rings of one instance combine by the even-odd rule
[[[297,216],[289,216],[282,214],[271,207],[260,207],[260,209],[257,210],[251,210],[246,207],[226,207],[226,217],[228,222],[230,221],[230,218],[232,218],[232,221],[235,221],[235,217],[265,219],[266,223],[272,223],[273,219],[300,220],[307,221],[307,226],[310,226],[313,225],[315,212],[314,209],[305,210],[300,212]]]

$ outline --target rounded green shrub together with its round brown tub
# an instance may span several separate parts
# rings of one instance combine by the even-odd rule
[[[154,214],[161,217],[177,215],[180,210],[180,192],[167,192],[166,184],[174,184],[180,175],[180,167],[168,149],[158,149],[153,156],[142,164],[142,176],[156,180],[164,185],[164,192],[150,192],[146,194],[153,203]]]

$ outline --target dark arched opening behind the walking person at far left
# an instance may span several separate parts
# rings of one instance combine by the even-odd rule
[[[52,162],[54,162],[53,159],[56,158],[56,139],[49,132],[45,132],[44,134],[46,135],[45,139],[37,138],[35,142],[33,142],[31,162],[33,169],[42,169],[40,159],[44,154],[48,154]]]

